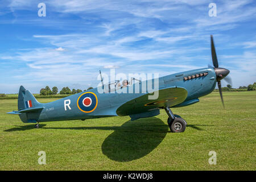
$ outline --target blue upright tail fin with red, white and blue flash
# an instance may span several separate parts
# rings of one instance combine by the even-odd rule
[[[39,107],[40,103],[32,95],[32,93],[26,90],[23,86],[19,88],[18,96],[18,110],[29,109],[30,107]]]

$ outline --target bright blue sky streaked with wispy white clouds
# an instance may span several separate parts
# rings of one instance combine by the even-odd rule
[[[0,93],[84,90],[110,68],[159,76],[205,68],[211,34],[233,88],[256,82],[253,0],[2,0],[0,26]]]

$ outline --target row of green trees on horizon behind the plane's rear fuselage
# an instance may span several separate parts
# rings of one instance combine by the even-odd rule
[[[93,89],[91,86],[87,89],[87,90],[90,90],[90,89]],[[86,91],[86,89],[84,90],[84,92]],[[42,88],[40,90],[40,96],[49,96],[49,95],[56,95],[58,94],[59,92],[59,89],[57,88],[57,86],[53,86],[53,88],[49,88],[49,86],[46,86],[46,88]],[[80,93],[82,92],[81,89],[69,89],[68,86],[66,87],[63,87],[59,94],[68,94],[68,95],[71,95],[71,94],[76,94],[76,93]]]

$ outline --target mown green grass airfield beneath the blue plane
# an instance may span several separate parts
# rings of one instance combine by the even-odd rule
[[[256,92],[213,92],[172,109],[187,123],[170,133],[164,110],[152,118],[129,117],[22,123],[17,100],[0,100],[0,170],[255,170]],[[50,102],[56,98],[40,98]],[[38,152],[46,152],[46,165]],[[217,152],[210,165],[209,151]]]

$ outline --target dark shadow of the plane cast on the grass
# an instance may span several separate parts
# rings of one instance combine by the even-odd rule
[[[102,153],[109,159],[118,162],[129,162],[146,156],[153,151],[170,133],[169,126],[159,118],[142,118],[137,121],[127,121],[122,126],[109,127],[44,127],[41,129],[71,129],[71,130],[114,130],[102,143]],[[196,130],[197,126],[187,125]],[[5,131],[24,131],[34,129],[34,125],[18,126]]]

